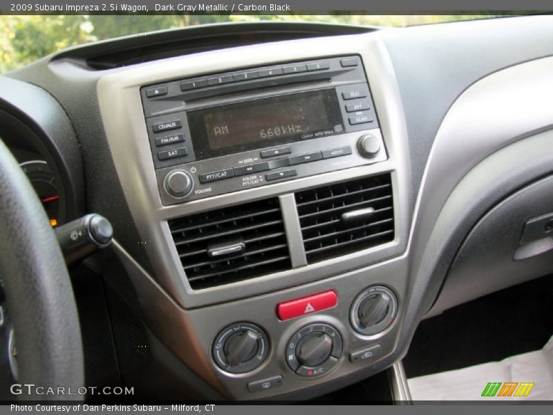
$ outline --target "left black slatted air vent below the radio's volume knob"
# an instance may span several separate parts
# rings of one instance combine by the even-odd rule
[[[169,221],[191,288],[288,270],[279,199],[265,199]]]

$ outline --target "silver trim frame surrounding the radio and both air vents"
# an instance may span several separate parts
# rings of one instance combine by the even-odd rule
[[[180,205],[162,205],[143,118],[140,86],[203,73],[232,71],[244,66],[263,66],[297,59],[348,54],[361,55],[365,64],[388,160]],[[209,62],[209,66],[206,62]],[[138,231],[142,241],[137,243],[145,243],[154,275],[181,306],[195,308],[259,295],[337,275],[404,252],[411,214],[409,145],[393,66],[384,44],[377,37],[353,35],[324,40],[303,39],[163,59],[104,75],[97,84],[97,93],[115,168],[133,220],[140,224]],[[396,217],[394,241],[355,255],[346,255],[247,282],[200,291],[191,290],[178,261],[167,219],[380,172],[392,173]]]

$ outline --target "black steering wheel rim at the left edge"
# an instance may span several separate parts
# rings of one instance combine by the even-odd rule
[[[13,399],[82,399],[81,331],[64,258],[37,194],[1,139],[0,223],[0,279],[17,344],[17,382],[35,384]]]

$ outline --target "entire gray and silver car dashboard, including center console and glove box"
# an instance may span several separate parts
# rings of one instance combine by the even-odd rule
[[[35,138],[0,135],[54,226],[111,221],[89,266],[186,367],[178,389],[313,398],[400,361],[424,317],[553,268],[525,231],[553,196],[551,21],[80,46],[2,77]]]

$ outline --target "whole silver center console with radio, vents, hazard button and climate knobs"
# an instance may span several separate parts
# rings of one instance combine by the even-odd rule
[[[98,95],[153,270],[121,257],[180,360],[237,399],[392,365],[409,154],[377,39],[165,59],[106,75]]]

